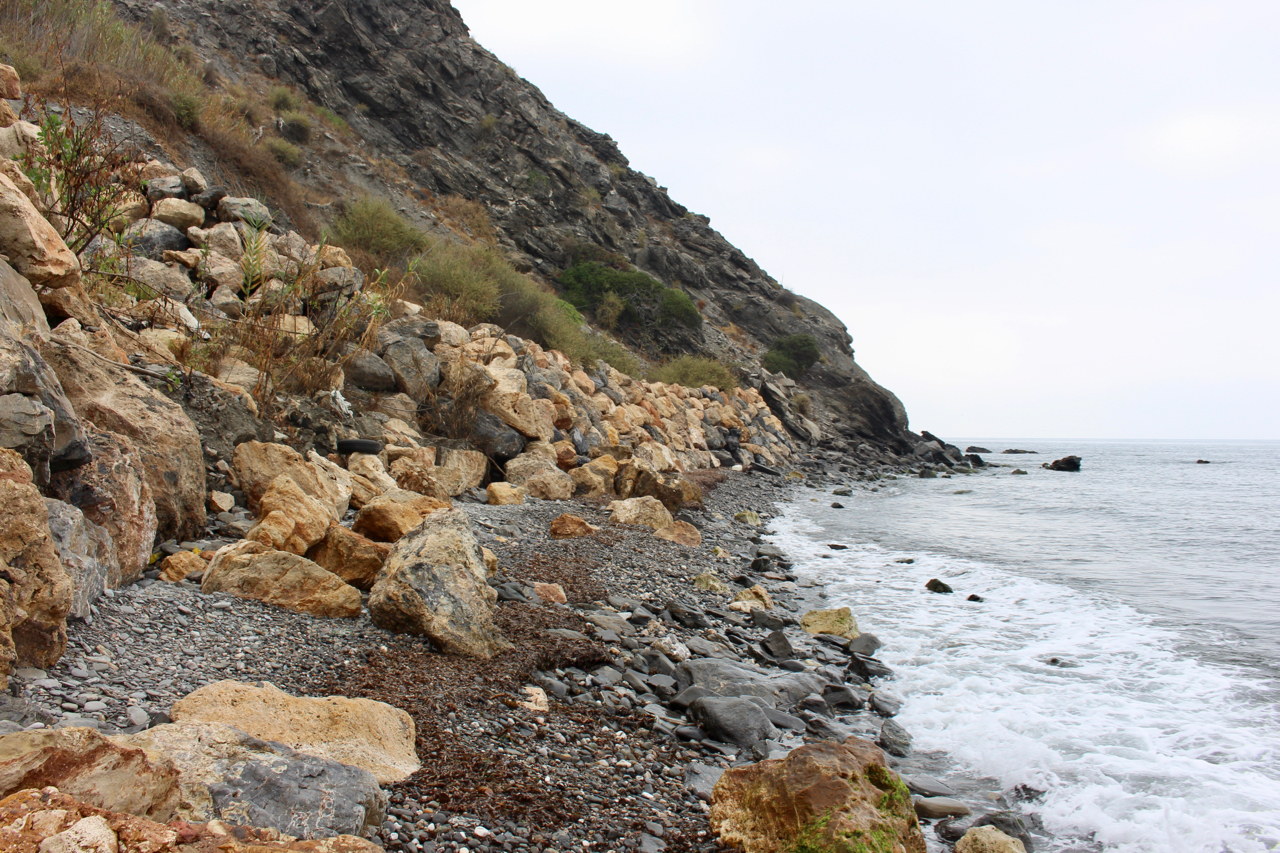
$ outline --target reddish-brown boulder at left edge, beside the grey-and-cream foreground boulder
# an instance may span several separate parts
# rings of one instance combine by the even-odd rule
[[[0,797],[47,785],[99,808],[161,821],[178,806],[178,770],[169,761],[111,743],[93,729],[0,736]]]

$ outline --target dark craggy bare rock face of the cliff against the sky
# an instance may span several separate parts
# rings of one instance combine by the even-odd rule
[[[116,5],[141,19],[152,4]],[[483,202],[517,268],[550,280],[575,246],[591,243],[686,291],[705,323],[652,330],[652,353],[751,368],[774,339],[813,334],[823,360],[803,384],[823,435],[837,448],[867,439],[910,447],[902,405],[855,364],[831,311],[781,288],[705,216],[631,169],[612,138],[557,110],[472,41],[448,3],[173,0],[168,9],[228,79],[279,78],[347,118],[360,154],[394,165],[398,179],[383,186],[401,199]],[[325,165],[346,172],[348,186],[376,183],[366,164]]]

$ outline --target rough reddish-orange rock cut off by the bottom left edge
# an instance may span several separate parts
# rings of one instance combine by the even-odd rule
[[[82,803],[56,788],[0,800],[0,843],[14,853],[383,853],[356,835],[300,841],[278,830],[221,821],[166,825]]]

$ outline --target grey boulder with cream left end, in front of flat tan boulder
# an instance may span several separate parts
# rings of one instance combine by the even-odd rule
[[[114,738],[178,768],[175,816],[265,826],[300,838],[376,829],[387,794],[361,767],[306,754],[221,722],[172,722]]]

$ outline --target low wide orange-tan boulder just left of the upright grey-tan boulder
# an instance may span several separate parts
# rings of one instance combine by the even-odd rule
[[[360,590],[306,557],[252,540],[218,551],[200,588],[326,619],[360,616]]]

